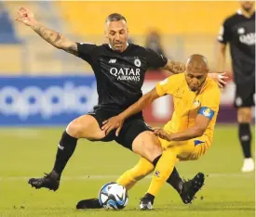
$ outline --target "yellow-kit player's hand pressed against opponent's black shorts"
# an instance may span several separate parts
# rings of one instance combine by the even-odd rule
[[[124,120],[118,116],[114,116],[106,121],[103,121],[102,123],[103,126],[101,127],[101,130],[104,132],[104,134],[109,134],[112,130],[116,129],[115,135],[118,136],[123,127]]]

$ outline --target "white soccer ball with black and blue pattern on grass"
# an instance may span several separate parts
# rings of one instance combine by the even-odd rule
[[[108,183],[101,187],[99,201],[106,210],[121,210],[128,205],[128,191],[122,185]]]

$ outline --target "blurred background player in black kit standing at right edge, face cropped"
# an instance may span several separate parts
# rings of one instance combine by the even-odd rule
[[[255,106],[255,8],[253,1],[240,1],[236,14],[225,19],[221,27],[218,67],[224,70],[226,45],[230,45],[237,109],[238,136],[244,154],[242,172],[254,170],[251,158],[251,108]]]

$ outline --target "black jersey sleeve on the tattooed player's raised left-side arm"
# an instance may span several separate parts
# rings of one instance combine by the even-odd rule
[[[91,64],[94,51],[97,45],[88,44],[88,43],[76,43],[77,44],[77,51],[78,57],[86,60],[89,64]]]

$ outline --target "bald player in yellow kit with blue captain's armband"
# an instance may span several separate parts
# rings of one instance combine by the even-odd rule
[[[117,128],[118,134],[123,121],[129,116],[141,111],[158,97],[173,96],[174,113],[171,121],[168,121],[164,129],[155,129],[154,132],[159,136],[163,154],[155,166],[151,185],[141,198],[141,210],[152,209],[155,195],[168,179],[177,160],[198,160],[212,143],[221,93],[218,85],[208,78],[208,72],[206,57],[193,55],[188,58],[184,73],[172,75],[157,83],[139,101],[104,122],[103,130],[106,133]],[[143,165],[138,165],[141,165],[142,171]],[[137,172],[140,172],[138,165]],[[118,183],[122,184],[123,181],[119,180]]]

